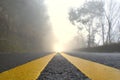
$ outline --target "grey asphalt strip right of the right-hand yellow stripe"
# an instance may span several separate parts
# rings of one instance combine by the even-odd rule
[[[120,69],[120,53],[68,52],[69,55]]]

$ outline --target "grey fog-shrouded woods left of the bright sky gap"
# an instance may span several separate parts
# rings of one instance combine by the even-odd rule
[[[1,51],[52,50],[54,35],[44,0],[1,0],[0,20]]]

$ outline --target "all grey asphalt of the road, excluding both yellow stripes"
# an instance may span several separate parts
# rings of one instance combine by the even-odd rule
[[[120,69],[120,53],[66,52],[69,55]],[[25,64],[50,53],[0,54],[0,72]],[[90,80],[70,62],[57,54],[46,66],[38,80]]]

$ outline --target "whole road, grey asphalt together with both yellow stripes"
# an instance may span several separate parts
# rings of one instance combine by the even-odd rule
[[[0,70],[2,72],[0,74],[0,79],[2,80],[120,79],[119,53],[87,53],[72,51],[66,53],[57,53],[50,55],[48,54],[50,53],[0,54],[1,55]],[[16,74],[17,76],[15,76]],[[28,74],[30,76],[28,76]],[[21,75],[23,76],[21,77]]]

